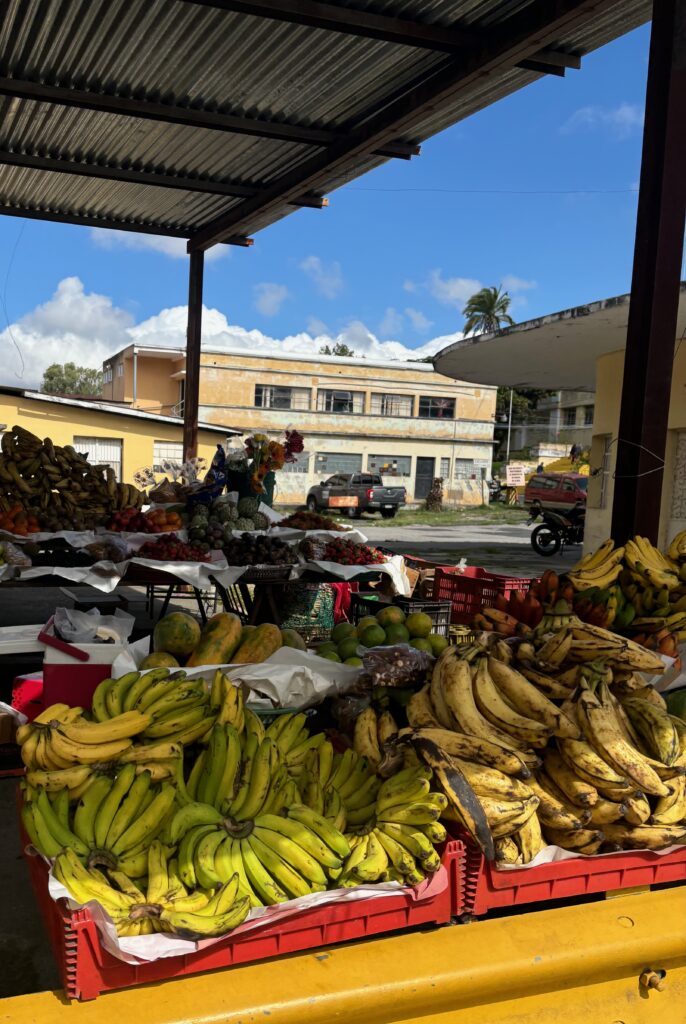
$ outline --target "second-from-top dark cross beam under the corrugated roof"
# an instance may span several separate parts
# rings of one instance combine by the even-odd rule
[[[152,99],[89,92],[87,89],[73,89],[70,86],[50,85],[20,78],[0,77],[0,95],[32,99],[39,103],[75,106],[100,114],[118,114],[146,121],[161,121],[188,128],[208,128],[213,131],[233,132],[237,135],[273,138],[281,142],[296,142],[301,145],[327,146],[344,138],[343,133],[327,128],[308,128],[289,122],[244,118],[233,114],[223,114],[220,111],[173,106]],[[406,160],[419,155],[419,146],[411,142],[389,139],[381,147],[379,155]]]

